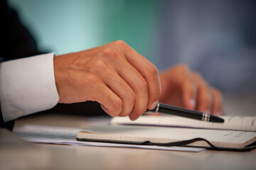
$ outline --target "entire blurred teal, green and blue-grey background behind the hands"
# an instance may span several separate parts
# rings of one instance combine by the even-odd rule
[[[223,92],[225,113],[256,115],[256,1],[9,0],[57,55],[124,40],[161,71],[186,63]]]

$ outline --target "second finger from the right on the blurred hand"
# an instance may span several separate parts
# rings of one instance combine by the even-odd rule
[[[201,112],[210,113],[210,96],[208,85],[206,81],[203,80],[200,74],[194,73],[194,78],[196,79],[198,86],[198,93],[196,99],[196,110]]]

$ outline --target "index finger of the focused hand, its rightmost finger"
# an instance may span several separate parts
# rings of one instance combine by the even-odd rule
[[[127,60],[146,79],[149,91],[149,103],[147,108],[153,109],[161,96],[159,72],[149,60],[139,55],[135,50],[129,50],[126,54]]]

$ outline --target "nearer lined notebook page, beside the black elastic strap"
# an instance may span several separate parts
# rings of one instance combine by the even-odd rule
[[[211,142],[215,147],[243,148],[256,140],[256,132],[100,125],[78,132],[77,137],[106,142],[144,142],[149,140],[155,143],[178,142],[201,137]],[[204,141],[194,142],[191,146],[209,147]]]

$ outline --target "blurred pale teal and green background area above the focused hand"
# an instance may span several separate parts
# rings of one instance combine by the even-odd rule
[[[124,40],[151,59],[159,3],[154,0],[11,0],[39,50],[58,55]]]

